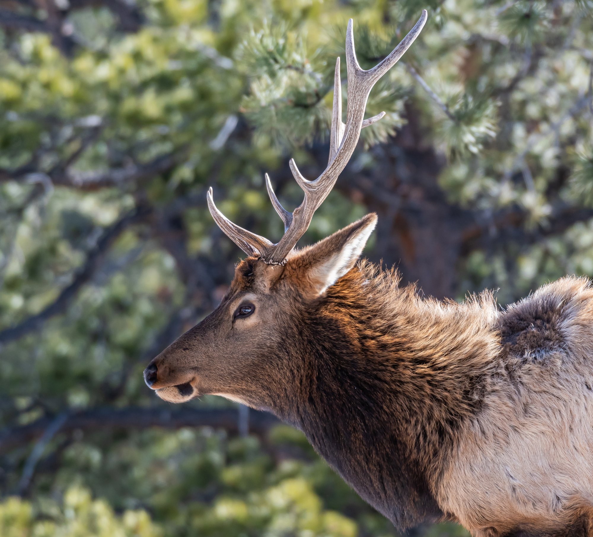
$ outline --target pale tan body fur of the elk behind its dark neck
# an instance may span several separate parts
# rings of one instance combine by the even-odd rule
[[[484,311],[496,321],[474,337],[499,341],[499,325],[515,311],[530,315],[542,308],[549,313],[547,326],[530,325],[527,334],[515,334],[515,340],[523,334],[524,341],[492,349],[483,408],[458,431],[436,486],[442,509],[476,536],[500,535],[530,520],[534,530],[555,535],[579,517],[587,535],[593,530],[593,290],[588,281],[568,277],[508,312]]]

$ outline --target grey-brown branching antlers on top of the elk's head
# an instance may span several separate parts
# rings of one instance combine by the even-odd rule
[[[247,229],[240,228],[226,218],[214,204],[212,199],[212,188],[208,191],[208,208],[216,220],[218,226],[228,235],[228,237],[237,244],[248,255],[259,255],[264,263],[283,265],[286,263],[286,256],[295,247],[297,241],[307,231],[313,213],[323,203],[330,193],[338,175],[346,167],[347,162],[352,156],[358,138],[361,135],[361,129],[380,120],[385,112],[377,116],[363,120],[366,100],[372,87],[389,69],[396,65],[397,60],[403,56],[404,52],[414,42],[428,16],[426,9],[422,10],[422,15],[416,25],[410,30],[400,44],[387,56],[381,63],[374,68],[364,71],[358,65],[356,53],[354,52],[354,37],[352,35],[352,19],[348,21],[346,31],[346,67],[348,73],[348,103],[346,110],[346,123],[342,123],[342,83],[340,81],[340,58],[336,60],[336,73],[334,75],[334,98],[333,112],[331,116],[331,137],[330,137],[330,155],[327,168],[315,180],[308,181],[301,172],[298,171],[294,159],[291,159],[289,165],[292,175],[305,193],[303,202],[292,212],[288,212],[276,198],[270,178],[266,174],[267,193],[272,200],[276,212],[284,222],[284,235],[278,244],[272,244],[266,238],[251,233]]]

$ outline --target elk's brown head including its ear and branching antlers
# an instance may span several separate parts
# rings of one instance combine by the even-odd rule
[[[267,192],[285,225],[285,234],[278,244],[228,220],[216,208],[212,188],[209,189],[208,207],[213,218],[248,257],[235,270],[234,280],[218,308],[146,367],[146,384],[159,397],[183,402],[201,394],[218,394],[282,414],[279,401],[297,382],[295,353],[307,353],[308,342],[300,334],[307,311],[313,304],[324,301],[327,289],[354,267],[377,216],[367,215],[303,250],[297,250],[295,245],[352,156],[361,129],[385,115],[364,119],[368,95],[416,39],[426,17],[424,10],[396,49],[369,71],[358,65],[352,20],[349,21],[346,123],[342,122],[338,58],[326,170],[317,179],[308,181],[291,159],[292,174],[305,194],[301,205],[292,213],[282,207],[266,174]],[[323,338],[323,327],[318,330]]]

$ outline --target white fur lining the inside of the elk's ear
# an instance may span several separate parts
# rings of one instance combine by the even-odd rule
[[[358,229],[356,234],[351,236],[342,248],[332,252],[329,256],[320,259],[310,269],[309,276],[314,282],[318,282],[320,287],[318,293],[325,292],[327,287],[334,285],[347,271],[350,270],[362,254],[366,241],[368,241],[373,229],[377,225],[377,220],[369,222],[366,226]]]

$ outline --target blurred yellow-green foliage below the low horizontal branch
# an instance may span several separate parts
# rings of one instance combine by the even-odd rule
[[[394,535],[289,427],[273,429],[266,446],[209,429],[146,431],[103,449],[85,440],[65,450],[32,501],[0,504],[0,535]]]

